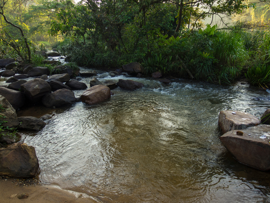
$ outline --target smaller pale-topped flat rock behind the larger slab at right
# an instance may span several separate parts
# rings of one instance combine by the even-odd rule
[[[218,125],[223,133],[231,130],[245,129],[260,123],[257,117],[241,111],[221,111],[218,115]]]

